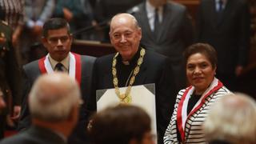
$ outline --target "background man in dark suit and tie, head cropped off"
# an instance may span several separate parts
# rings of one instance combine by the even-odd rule
[[[177,89],[186,87],[182,53],[194,41],[186,7],[167,0],[146,0],[130,11],[142,26],[142,46],[166,55],[174,70]]]

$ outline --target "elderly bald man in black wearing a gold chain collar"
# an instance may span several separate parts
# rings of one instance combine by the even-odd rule
[[[95,90],[154,83],[158,139],[162,142],[174,108],[174,78],[169,58],[145,50],[139,45],[141,38],[142,30],[134,16],[115,15],[110,22],[110,41],[118,53],[96,60],[93,82]],[[96,98],[93,96],[88,103],[90,110],[96,110]]]

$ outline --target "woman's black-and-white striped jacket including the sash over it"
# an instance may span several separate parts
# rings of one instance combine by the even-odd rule
[[[178,92],[174,113],[170,124],[166,129],[164,143],[206,143],[202,130],[202,123],[205,121],[210,106],[225,94],[230,93],[222,82],[214,78],[210,87],[202,94],[202,97],[195,104],[190,114],[186,114],[188,100],[194,92],[194,86],[190,86]]]

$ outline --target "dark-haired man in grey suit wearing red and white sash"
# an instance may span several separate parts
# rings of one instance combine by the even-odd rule
[[[70,52],[73,38],[72,34],[70,34],[70,26],[66,20],[62,18],[51,18],[44,24],[42,35],[42,43],[49,54],[44,58],[23,66],[24,87],[22,92],[22,115],[19,122],[19,130],[26,129],[30,126],[30,110],[26,103],[27,95],[35,79],[41,74],[61,70],[76,79],[81,87],[82,100],[84,102],[86,102],[87,98],[91,95],[91,75],[95,58]],[[82,105],[78,126],[74,130],[74,134],[70,137],[70,143],[72,144],[86,142],[85,129],[88,113],[85,107],[85,105]]]

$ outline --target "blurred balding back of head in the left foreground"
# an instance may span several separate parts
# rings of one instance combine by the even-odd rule
[[[60,122],[70,116],[80,97],[77,82],[68,74],[43,74],[30,91],[31,116],[46,122]]]

